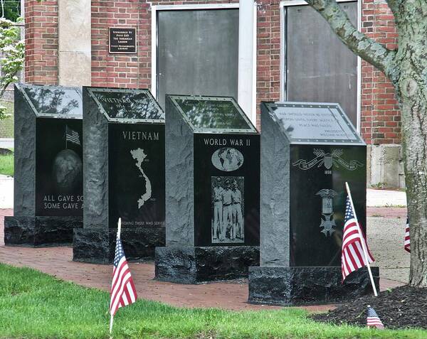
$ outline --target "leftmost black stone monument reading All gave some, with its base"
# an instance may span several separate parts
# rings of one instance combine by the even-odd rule
[[[82,95],[15,85],[14,216],[7,245],[70,244],[83,225]]]

